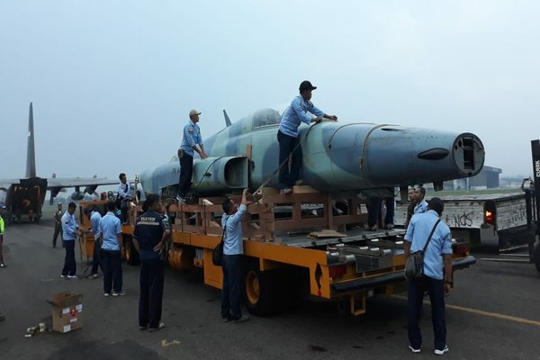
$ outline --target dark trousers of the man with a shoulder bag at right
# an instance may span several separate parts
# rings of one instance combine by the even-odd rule
[[[422,334],[419,321],[422,316],[424,292],[429,292],[431,302],[431,320],[435,348],[442,350],[446,346],[445,281],[424,276],[419,280],[409,281],[409,303],[407,307],[410,346],[419,349],[422,346]]]

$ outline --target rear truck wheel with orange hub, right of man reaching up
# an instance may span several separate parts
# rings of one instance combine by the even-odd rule
[[[271,315],[277,311],[275,302],[275,276],[257,269],[249,269],[246,274],[247,310],[257,316]]]

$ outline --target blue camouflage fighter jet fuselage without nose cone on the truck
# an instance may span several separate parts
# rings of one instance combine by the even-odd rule
[[[210,157],[193,162],[193,191],[226,194],[249,187],[278,185],[277,129],[282,113],[257,111],[205,139]],[[484,163],[482,141],[472,133],[404,128],[392,124],[323,121],[300,129],[302,184],[328,192],[366,196],[410,184],[443,182],[478,174]],[[174,197],[178,157],[140,175],[146,193]],[[388,196],[388,195],[387,195]]]

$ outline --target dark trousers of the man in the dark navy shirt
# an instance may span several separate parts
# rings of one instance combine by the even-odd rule
[[[161,321],[165,261],[140,260],[139,326],[157,329]]]

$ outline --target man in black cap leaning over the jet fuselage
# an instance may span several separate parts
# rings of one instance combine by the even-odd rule
[[[338,120],[336,115],[327,115],[311,103],[311,91],[317,86],[305,80],[300,85],[300,95],[293,99],[293,102],[285,110],[277,131],[277,141],[279,142],[279,187],[281,193],[293,193],[293,185],[300,178],[302,167],[302,148],[298,139],[298,128],[302,122],[320,122],[323,118],[333,121]],[[312,117],[311,114],[315,115]],[[291,168],[288,160],[291,157]]]

